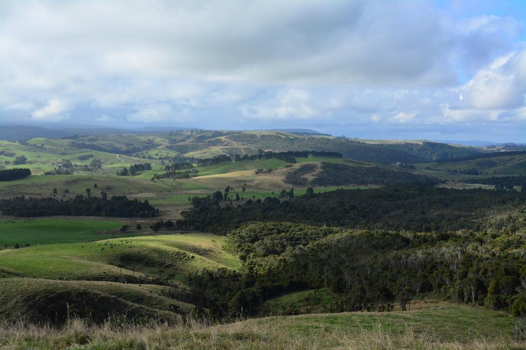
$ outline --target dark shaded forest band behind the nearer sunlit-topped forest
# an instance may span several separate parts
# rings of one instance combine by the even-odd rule
[[[515,191],[398,185],[338,189],[244,205],[220,206],[213,196],[194,198],[180,228],[226,234],[249,221],[290,221],[360,229],[447,232],[461,229],[508,234],[524,224],[526,195]],[[521,221],[522,220],[522,221]]]

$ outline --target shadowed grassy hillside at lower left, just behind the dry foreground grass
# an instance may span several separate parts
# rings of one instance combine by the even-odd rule
[[[0,283],[0,317],[16,313],[31,320],[64,322],[70,317],[94,321],[108,315],[177,319],[193,305],[159,295],[168,287],[97,281],[7,278]]]

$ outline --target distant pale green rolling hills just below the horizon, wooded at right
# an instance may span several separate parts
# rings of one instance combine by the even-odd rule
[[[9,127],[10,128],[10,127]],[[31,129],[29,130],[31,131]],[[428,141],[385,142],[355,140],[307,132],[286,131],[118,131],[87,135],[57,131],[61,137],[38,130],[21,137],[2,137],[0,140],[21,141],[34,149],[17,149],[5,143],[8,152],[36,152],[72,155],[79,153],[113,153],[137,158],[186,156],[206,158],[214,155],[256,154],[259,149],[269,151],[331,151],[358,161],[392,164],[417,163],[453,157],[469,156],[489,150],[476,147],[448,145]],[[49,141],[46,141],[49,140]],[[13,148],[10,150],[9,147]],[[47,150],[47,151],[46,151]],[[53,151],[53,152],[51,152]]]

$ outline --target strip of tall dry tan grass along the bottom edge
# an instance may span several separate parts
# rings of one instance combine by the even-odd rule
[[[380,323],[309,334],[297,332],[294,316],[291,327],[276,330],[266,322],[246,321],[209,325],[195,320],[180,325],[149,325],[133,322],[106,322],[90,325],[83,320],[70,321],[62,328],[37,326],[24,322],[0,325],[1,349],[526,349],[522,340],[484,336],[464,340],[443,340],[437,335],[418,332],[412,327],[390,332]]]

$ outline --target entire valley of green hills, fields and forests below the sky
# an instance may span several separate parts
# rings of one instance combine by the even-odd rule
[[[424,347],[426,337],[503,344],[526,315],[515,290],[522,151],[264,131],[1,143],[3,317],[88,318],[75,332],[92,345],[109,313],[167,322],[203,346],[230,344],[238,329],[245,346],[280,347],[292,332],[306,348],[351,344],[349,332],[352,342],[383,332],[406,344],[417,332]],[[467,336],[469,324],[485,335]]]

